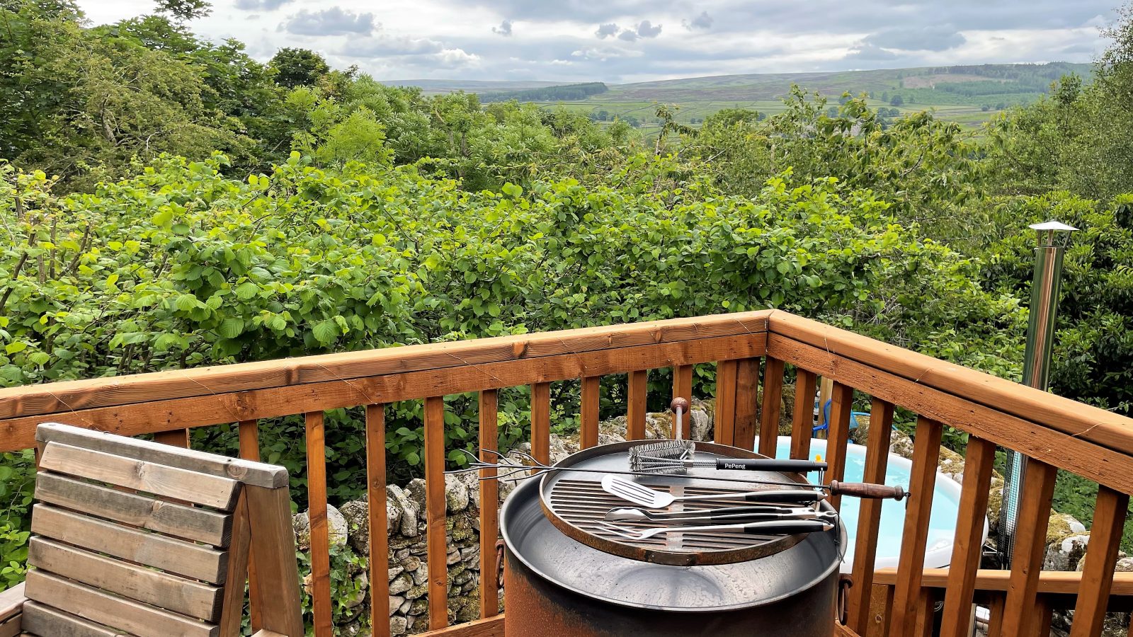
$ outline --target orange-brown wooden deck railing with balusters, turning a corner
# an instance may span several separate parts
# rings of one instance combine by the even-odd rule
[[[787,366],[794,370],[796,408],[791,455],[809,455],[811,397],[817,377],[834,381],[826,479],[841,479],[855,392],[872,402],[866,479],[885,475],[894,407],[918,414],[905,541],[892,576],[891,606],[880,632],[869,612],[880,506],[863,501],[855,546],[850,628],[859,634],[914,635],[927,622],[931,595],[922,572],[928,516],[944,425],[971,434],[964,470],[954,568],[944,581],[946,637],[966,635],[978,584],[982,512],[995,445],[1036,461],[1026,474],[1029,496],[1016,537],[1015,569],[1003,600],[994,637],[1041,635],[1033,620],[1040,598],[1041,550],[1054,489],[1055,468],[1101,484],[1091,551],[1085,558],[1075,602],[1074,636],[1096,636],[1113,585],[1113,557],[1121,538],[1128,493],[1133,491],[1133,421],[1108,411],[921,356],[844,330],[776,311],[679,318],[651,323],[526,334],[339,355],[310,356],[189,371],[161,372],[0,390],[0,450],[33,447],[34,427],[61,422],[114,433],[157,434],[186,444],[189,427],[239,424],[240,456],[256,458],[257,422],[295,414],[306,418],[307,484],[310,504],[315,629],[331,634],[329,528],[323,411],[365,406],[367,491],[372,554],[382,555],[385,528],[384,406],[423,400],[429,628],[448,625],[444,537],[444,397],[479,392],[480,445],[496,441],[497,390],[531,387],[533,455],[547,459],[550,383],[581,380],[581,441],[596,443],[600,376],[629,374],[629,436],[644,438],[650,370],[673,370],[673,396],[691,398],[692,366],[714,363],[717,371],[715,440],[773,453],[778,406]],[[757,387],[763,384],[763,404]],[[668,398],[666,396],[666,398]],[[688,432],[685,431],[685,435]],[[482,502],[492,502],[493,483]],[[492,507],[482,508],[482,574],[495,568],[491,557],[497,532]],[[372,596],[387,595],[386,564],[370,564]],[[255,577],[255,574],[252,574]],[[467,629],[437,635],[502,635],[492,577],[482,579],[483,620]],[[441,603],[436,603],[441,601]],[[881,600],[883,603],[887,600]],[[385,635],[384,604],[372,604],[375,635]],[[258,617],[253,609],[253,627]]]

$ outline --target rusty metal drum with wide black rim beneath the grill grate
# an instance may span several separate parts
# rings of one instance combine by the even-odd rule
[[[581,455],[586,455],[585,460],[624,453],[630,445],[616,443],[589,449],[561,465],[579,461]],[[733,448],[722,449],[736,456],[759,457]],[[555,479],[578,479],[582,474],[550,475],[555,475]],[[767,474],[747,472],[743,477],[764,476]],[[758,550],[763,554],[731,563],[655,563],[604,552],[568,536],[544,512],[540,481],[530,479],[509,496],[500,526],[506,547],[508,635],[830,635],[838,560],[846,542],[841,525],[806,536],[757,537],[758,542],[739,550],[764,546]],[[791,540],[777,546],[778,550],[768,550],[768,543],[784,537]]]

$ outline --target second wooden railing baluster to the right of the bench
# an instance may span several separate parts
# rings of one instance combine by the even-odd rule
[[[369,534],[369,621],[373,637],[389,637],[390,538],[385,518],[385,406],[366,406],[366,520]]]

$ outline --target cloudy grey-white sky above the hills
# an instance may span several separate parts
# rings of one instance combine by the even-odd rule
[[[1091,61],[1121,0],[213,0],[198,34],[305,46],[378,79],[644,82]],[[108,23],[143,0],[79,0]]]

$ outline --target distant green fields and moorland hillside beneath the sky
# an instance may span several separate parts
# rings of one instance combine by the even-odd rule
[[[1029,104],[1047,93],[1050,83],[1065,74],[1089,76],[1090,65],[1049,62],[1045,65],[980,65],[836,73],[790,73],[690,77],[636,84],[607,84],[608,91],[578,101],[536,102],[546,108],[563,107],[597,117],[633,118],[642,129],[658,126],[657,103],[680,107],[676,119],[698,124],[727,108],[755,109],[767,114],[783,110],[782,99],[792,85],[818,92],[837,104],[844,93],[870,96],[875,108],[897,108],[901,112],[932,110],[940,119],[977,127],[1005,108]],[[474,83],[461,80],[403,80],[391,84],[421,86],[426,93],[450,91],[519,91],[551,83]],[[491,88],[489,88],[491,87]],[[895,96],[903,102],[892,105]],[[631,120],[632,121],[632,120]]]

